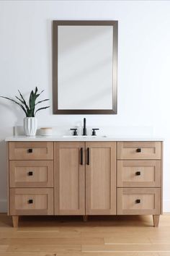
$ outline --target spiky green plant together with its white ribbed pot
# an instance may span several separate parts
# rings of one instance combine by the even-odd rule
[[[44,90],[42,90],[42,92],[43,91]],[[35,88],[35,92],[32,90],[31,93],[30,93],[30,99],[29,99],[28,104],[24,100],[24,97],[22,96],[22,93],[20,93],[20,91],[19,91],[20,98],[15,96],[15,98],[17,98],[18,101],[13,100],[12,98],[0,96],[1,98],[6,98],[9,101],[13,101],[14,103],[16,103],[17,105],[19,105],[22,108],[22,110],[24,111],[24,114],[26,116],[24,118],[24,132],[25,132],[25,135],[27,135],[27,136],[35,136],[36,135],[37,119],[36,119],[35,115],[37,114],[37,112],[42,110],[42,109],[50,107],[50,106],[45,106],[45,107],[42,107],[42,108],[37,108],[37,110],[35,110],[35,107],[38,104],[40,104],[44,101],[49,101],[48,98],[45,99],[45,100],[42,100],[42,101],[37,101],[37,98],[40,96],[41,93],[37,93],[37,87]]]

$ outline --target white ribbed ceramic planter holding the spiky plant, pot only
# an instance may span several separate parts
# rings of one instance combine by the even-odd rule
[[[35,136],[37,132],[37,119],[36,117],[24,118],[24,133],[26,136]]]

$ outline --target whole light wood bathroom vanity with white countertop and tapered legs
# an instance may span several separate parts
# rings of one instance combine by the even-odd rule
[[[9,137],[8,214],[162,214],[163,141]]]

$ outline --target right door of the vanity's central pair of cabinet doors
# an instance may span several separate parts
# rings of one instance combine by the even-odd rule
[[[116,214],[116,142],[86,142],[86,214]]]

